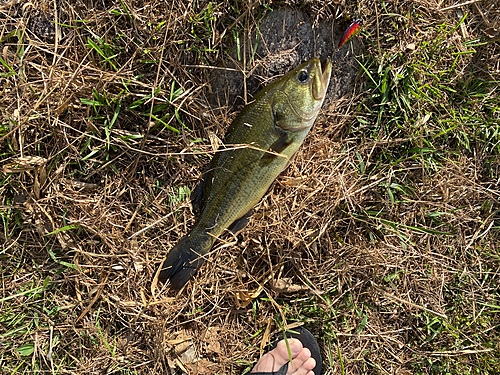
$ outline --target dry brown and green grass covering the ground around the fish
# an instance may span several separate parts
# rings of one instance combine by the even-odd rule
[[[363,18],[353,88],[175,295],[156,265],[240,109],[212,74],[266,81],[258,31],[284,4],[62,3],[0,6],[2,373],[238,374],[302,323],[325,374],[498,373],[495,7],[290,2]]]

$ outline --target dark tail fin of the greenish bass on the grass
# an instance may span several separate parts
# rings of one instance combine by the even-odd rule
[[[209,249],[204,249],[200,242],[193,244],[188,236],[182,237],[160,265],[158,280],[163,283],[170,280],[172,289],[181,289],[201,267],[205,261],[203,255]]]

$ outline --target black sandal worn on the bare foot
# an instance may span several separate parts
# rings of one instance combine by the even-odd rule
[[[304,348],[307,348],[311,351],[311,357],[316,360],[316,367],[314,367],[313,369],[314,375],[320,375],[322,368],[321,352],[319,350],[318,342],[316,341],[312,333],[304,327],[297,327],[291,329],[290,331],[287,331],[286,337],[287,339],[294,338],[299,340]],[[266,349],[264,350],[264,354],[276,348],[280,340],[283,340],[283,332],[276,334],[273,343],[266,347]],[[285,363],[276,372],[252,372],[249,373],[249,375],[286,375],[289,363],[290,362]]]

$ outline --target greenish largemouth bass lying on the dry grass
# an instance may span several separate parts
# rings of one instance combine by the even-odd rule
[[[217,238],[239,232],[253,207],[288,166],[323,105],[332,62],[313,58],[265,86],[229,126],[191,194],[193,227],[162,260],[156,276],[180,290]]]

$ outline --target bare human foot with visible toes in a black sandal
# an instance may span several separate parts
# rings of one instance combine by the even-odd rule
[[[311,357],[311,351],[308,348],[304,348],[298,339],[289,338],[288,344],[292,355],[291,365],[285,340],[281,340],[278,342],[278,345],[276,345],[276,348],[262,356],[251,371],[251,374],[273,374],[280,370],[285,364],[288,364],[286,372],[283,369],[283,372],[279,372],[279,374],[314,375],[312,370],[316,367],[316,360]]]

